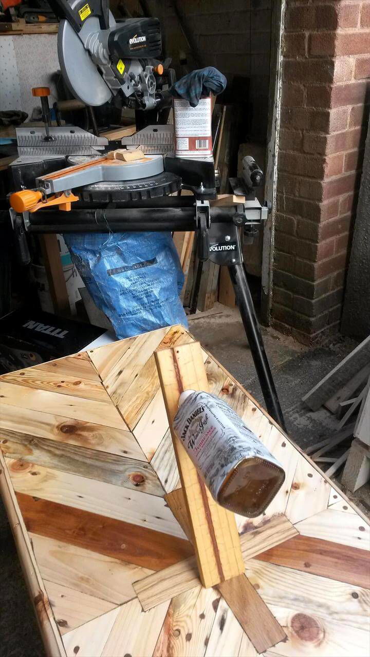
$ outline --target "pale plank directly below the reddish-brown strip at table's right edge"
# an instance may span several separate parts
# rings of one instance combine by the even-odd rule
[[[367,626],[367,589],[257,559],[248,561],[246,575],[267,605],[317,614],[358,629]]]

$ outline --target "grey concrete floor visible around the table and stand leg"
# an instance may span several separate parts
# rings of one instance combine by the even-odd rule
[[[210,313],[190,318],[189,325],[203,346],[263,405],[238,310],[217,304]],[[271,328],[263,328],[262,332],[288,433],[305,449],[334,433],[337,420],[325,409],[309,411],[301,401],[302,396],[352,351],[356,342],[335,336],[325,346],[311,349]],[[361,500],[369,509],[368,486],[354,496],[357,504]],[[0,657],[43,657],[38,626],[1,503],[0,558]]]

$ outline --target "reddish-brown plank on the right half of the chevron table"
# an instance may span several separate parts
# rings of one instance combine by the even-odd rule
[[[370,588],[369,553],[350,545],[297,535],[255,558],[365,589]]]

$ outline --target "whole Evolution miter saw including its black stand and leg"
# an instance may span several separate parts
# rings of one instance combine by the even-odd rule
[[[241,235],[253,237],[267,218],[267,207],[259,204],[254,190],[261,184],[262,171],[253,158],[244,158],[242,178],[230,180],[234,191],[230,205],[212,206],[209,201],[217,198],[213,158],[174,156],[172,126],[161,125],[160,112],[171,104],[174,74],[158,59],[158,20],[116,22],[106,0],[50,0],[50,4],[61,18],[59,62],[72,94],[86,104],[99,105],[120,93],[124,103],[136,110],[142,131],[128,138],[126,148],[120,144],[114,151],[87,133],[93,143],[84,146],[96,150],[85,155],[76,154],[70,138],[79,135],[81,142],[83,135],[76,135],[73,127],[66,126],[64,135],[60,128],[49,126],[35,131],[33,147],[44,152],[22,155],[11,166],[17,190],[10,196],[16,233],[24,238],[26,233],[196,231],[195,299],[203,261],[226,265],[267,409],[284,428],[240,242]],[[32,147],[32,138],[28,144]],[[53,147],[62,152],[54,153],[51,160],[48,149]],[[182,189],[192,195],[180,196]]]

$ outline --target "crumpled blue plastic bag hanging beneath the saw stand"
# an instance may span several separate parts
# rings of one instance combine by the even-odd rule
[[[172,324],[188,327],[178,298],[184,284],[171,233],[65,234],[95,304],[117,338]]]

